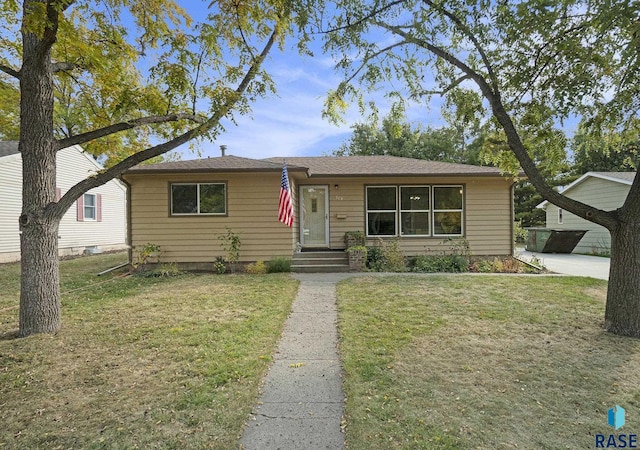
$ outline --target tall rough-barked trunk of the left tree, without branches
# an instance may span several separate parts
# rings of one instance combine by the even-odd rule
[[[37,1],[25,0],[25,14]],[[51,8],[49,8],[51,9]],[[56,191],[53,137],[53,66],[57,12],[42,35],[22,29],[20,70],[20,144],[22,153],[22,215],[20,216],[20,336],[53,333],[60,328],[58,224],[51,211]]]

